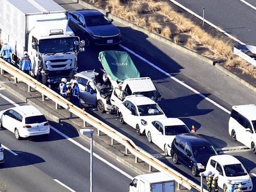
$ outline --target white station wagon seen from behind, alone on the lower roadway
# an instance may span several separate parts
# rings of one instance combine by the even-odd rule
[[[16,139],[50,134],[48,120],[32,105],[15,106],[1,111],[0,127],[13,132]]]

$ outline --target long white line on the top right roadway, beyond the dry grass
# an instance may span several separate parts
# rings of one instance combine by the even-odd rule
[[[203,17],[201,17],[200,15],[198,15],[197,13],[195,13],[194,11],[191,11],[190,9],[186,8],[185,6],[181,5],[180,3],[176,2],[175,0],[169,0],[170,2],[174,3],[175,5],[179,6],[180,8],[186,10],[188,13],[196,16],[197,18],[203,20]],[[241,40],[237,39],[236,37],[230,35],[229,33],[227,33],[226,31],[224,31],[223,29],[219,28],[218,26],[210,23],[208,20],[204,19],[204,22],[207,23],[209,26],[217,29],[218,31],[220,31],[221,33],[225,34],[226,36],[228,36],[229,38],[237,41],[239,44],[241,45],[246,45],[244,42],[242,42]]]

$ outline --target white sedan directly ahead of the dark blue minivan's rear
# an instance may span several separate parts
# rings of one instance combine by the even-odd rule
[[[165,156],[170,156],[172,142],[176,135],[191,133],[185,123],[178,118],[166,118],[148,122],[145,126],[145,134],[149,142],[155,143]]]

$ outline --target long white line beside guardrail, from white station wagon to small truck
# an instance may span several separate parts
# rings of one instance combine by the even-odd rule
[[[58,133],[59,135],[61,135],[62,137],[68,139],[70,142],[72,142],[73,144],[75,144],[76,146],[82,148],[82,150],[90,153],[89,148],[86,148],[85,146],[81,145],[80,143],[78,143],[77,141],[75,141],[74,139],[71,139],[69,136],[63,134],[62,132],[60,132],[59,130],[57,130],[56,128],[54,128],[53,126],[50,126],[50,128],[55,131],[56,133]],[[96,157],[97,159],[99,159],[100,161],[102,161],[103,163],[111,166],[112,168],[114,168],[115,170],[117,170],[119,173],[121,173],[122,175],[126,176],[129,179],[133,179],[132,176],[130,176],[129,174],[125,173],[123,170],[121,170],[120,168],[116,167],[115,165],[113,165],[112,163],[110,163],[109,161],[106,161],[105,159],[103,159],[102,157],[100,157],[99,155],[93,153],[93,156]]]

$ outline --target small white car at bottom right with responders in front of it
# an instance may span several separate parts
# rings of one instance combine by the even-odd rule
[[[235,187],[242,185],[243,191],[252,191],[252,182],[243,164],[231,155],[211,156],[206,165],[206,172],[218,175],[218,185],[225,189],[230,181],[236,182]]]

